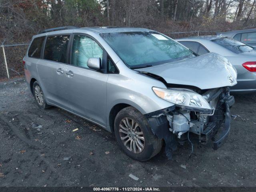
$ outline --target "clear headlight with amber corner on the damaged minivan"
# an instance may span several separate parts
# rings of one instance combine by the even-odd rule
[[[210,104],[198,93],[184,89],[164,89],[152,88],[155,94],[177,106],[185,106],[187,108],[212,110]]]

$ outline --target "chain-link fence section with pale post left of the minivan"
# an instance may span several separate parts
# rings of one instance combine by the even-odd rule
[[[0,80],[24,75],[22,59],[29,44],[0,46]]]

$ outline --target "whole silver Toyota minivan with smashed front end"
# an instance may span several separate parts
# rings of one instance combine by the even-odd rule
[[[193,148],[192,139],[218,149],[230,132],[232,64],[156,31],[48,29],[33,36],[23,63],[41,109],[56,106],[102,126],[136,160],[164,143],[171,158],[178,144]]]

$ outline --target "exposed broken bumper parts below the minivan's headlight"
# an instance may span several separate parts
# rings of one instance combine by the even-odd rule
[[[217,100],[216,109],[213,114],[205,115],[198,112],[195,118],[193,117],[193,114],[196,114],[194,111],[189,111],[188,115],[188,111],[172,107],[146,115],[152,132],[159,139],[165,141],[165,152],[168,159],[172,158],[172,152],[176,150],[178,143],[184,144],[184,142],[188,142],[188,132],[191,133],[189,136],[193,140],[197,139],[201,144],[212,142],[214,150],[220,148],[226,141],[230,132],[230,107],[234,104],[234,97],[229,95],[228,88],[215,90],[215,92],[208,94],[208,96],[209,101]],[[184,113],[182,114],[182,112]],[[177,114],[181,114],[184,116],[183,119],[188,121],[179,124],[182,118],[177,117]],[[175,120],[177,120],[176,124]]]

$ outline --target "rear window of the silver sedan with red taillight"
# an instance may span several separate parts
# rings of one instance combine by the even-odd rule
[[[218,38],[211,41],[229,49],[234,53],[244,53],[254,49],[251,46],[244,44],[243,42],[227,37]]]

